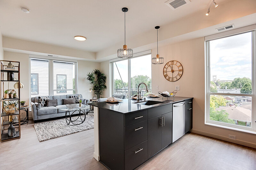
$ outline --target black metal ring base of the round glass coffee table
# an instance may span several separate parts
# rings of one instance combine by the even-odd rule
[[[78,115],[77,118],[74,118],[75,120],[72,120],[72,116],[73,116],[73,114],[74,114],[76,111],[79,112],[79,115]],[[83,116],[83,115],[84,115],[84,118],[81,117],[81,116]],[[84,123],[85,118],[86,118],[86,113],[85,113],[84,110],[75,110],[75,111],[73,111],[73,112],[70,114],[70,112],[67,110],[67,111],[66,111],[66,114],[65,114],[65,117],[66,117],[66,122],[67,122],[67,124],[70,125],[70,126],[74,126],[74,125],[79,125],[79,124]],[[74,117],[74,116],[73,116],[73,117]],[[80,120],[79,120],[79,118],[80,118]]]

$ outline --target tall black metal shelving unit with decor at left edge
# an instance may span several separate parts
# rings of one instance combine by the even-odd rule
[[[15,69],[6,69],[8,66],[8,63],[11,62],[13,66],[15,66]],[[8,60],[0,60],[0,105],[1,105],[1,111],[0,111],[0,127],[1,127],[1,133],[0,133],[0,142],[17,139],[20,138],[20,62],[19,61],[8,61]],[[17,80],[7,80],[7,74],[13,73],[14,77]],[[18,85],[18,92],[17,98],[8,98],[4,99],[4,90],[7,90],[9,85],[8,83],[19,83]],[[8,114],[4,112],[4,102],[9,103],[17,101],[18,102],[18,111],[13,114]],[[13,121],[13,116],[18,116],[18,121]],[[12,120],[12,124],[15,127],[15,136],[8,137],[8,127],[10,126],[11,122],[9,120]]]

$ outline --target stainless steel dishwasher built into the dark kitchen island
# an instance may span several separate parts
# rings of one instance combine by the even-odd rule
[[[172,142],[185,135],[185,102],[172,105]]]

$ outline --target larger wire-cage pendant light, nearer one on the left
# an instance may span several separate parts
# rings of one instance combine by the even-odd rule
[[[124,46],[123,48],[119,48],[117,50],[117,57],[118,58],[132,58],[133,57],[133,51],[131,48],[127,48],[127,45],[125,44],[125,12],[128,11],[128,8],[122,8],[122,11],[124,12]]]

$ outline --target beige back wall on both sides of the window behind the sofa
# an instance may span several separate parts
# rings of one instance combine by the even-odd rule
[[[24,100],[26,104],[29,104],[29,54],[4,51],[4,60],[20,61],[20,82],[24,84],[24,88],[20,89],[20,100]],[[78,60],[77,66],[77,93],[82,94],[83,98],[91,99],[92,93],[88,93],[91,85],[86,80],[86,74],[93,69],[100,69],[100,63]],[[10,83],[9,87],[11,88],[12,86]],[[22,112],[21,117],[25,116],[25,112]],[[29,113],[29,118],[32,118],[31,112]]]

